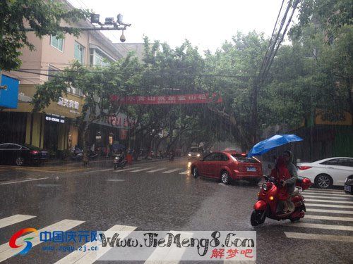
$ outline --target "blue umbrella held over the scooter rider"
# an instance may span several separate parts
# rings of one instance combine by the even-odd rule
[[[260,156],[271,149],[275,149],[277,146],[282,146],[289,142],[301,142],[302,140],[301,137],[298,137],[295,134],[275,134],[273,137],[258,142],[258,144],[253,146],[248,153],[248,157]]]

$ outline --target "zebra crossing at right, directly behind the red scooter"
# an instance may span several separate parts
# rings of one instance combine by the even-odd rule
[[[353,243],[353,236],[320,234],[320,230],[353,232],[353,196],[342,190],[308,189],[303,192],[306,214],[300,222],[285,226],[305,229],[305,232],[285,232],[287,239],[311,239]],[[325,209],[323,209],[325,208]],[[337,210],[338,209],[338,210]]]

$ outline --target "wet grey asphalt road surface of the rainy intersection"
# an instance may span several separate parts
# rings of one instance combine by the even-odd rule
[[[194,179],[188,170],[185,159],[116,171],[108,166],[1,166],[0,261],[73,263],[69,252],[43,251],[40,244],[25,256],[13,256],[8,240],[25,227],[78,231],[124,225],[136,230],[256,231],[256,263],[352,263],[353,197],[342,190],[304,191],[308,212],[301,222],[267,219],[253,228],[249,218],[257,185]]]

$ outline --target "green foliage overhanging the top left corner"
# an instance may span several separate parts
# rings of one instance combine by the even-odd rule
[[[59,1],[43,0],[1,0],[0,1],[0,69],[14,70],[20,67],[20,49],[35,46],[28,41],[28,27],[37,37],[53,34],[78,36],[79,31],[68,25],[88,17],[87,11],[68,8]]]

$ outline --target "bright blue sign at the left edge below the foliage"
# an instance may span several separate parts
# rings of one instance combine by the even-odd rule
[[[0,108],[17,108],[19,84],[17,79],[1,76]]]

